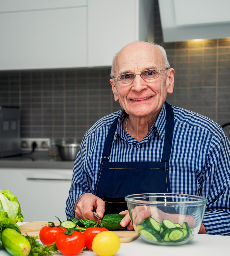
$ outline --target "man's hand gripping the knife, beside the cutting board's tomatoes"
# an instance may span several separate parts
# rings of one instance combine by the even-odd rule
[[[96,210],[96,213],[102,218],[104,216],[104,208],[105,202],[101,198],[92,193],[85,193],[81,195],[74,204],[75,218],[89,218],[97,221],[98,219],[93,215],[93,209]]]

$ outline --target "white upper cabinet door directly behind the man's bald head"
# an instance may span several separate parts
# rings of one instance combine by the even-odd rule
[[[116,52],[139,39],[133,0],[88,0],[88,66],[111,66]]]

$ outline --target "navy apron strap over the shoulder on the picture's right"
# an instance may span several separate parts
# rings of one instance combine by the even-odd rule
[[[173,141],[174,114],[173,108],[165,101],[166,105],[166,124],[165,124],[165,141],[161,162],[169,162]]]

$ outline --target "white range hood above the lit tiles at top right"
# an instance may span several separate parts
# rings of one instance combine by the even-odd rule
[[[165,43],[230,37],[229,0],[159,0]]]

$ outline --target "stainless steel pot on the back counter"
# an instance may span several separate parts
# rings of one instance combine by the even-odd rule
[[[80,144],[57,144],[59,156],[63,161],[74,161]]]

